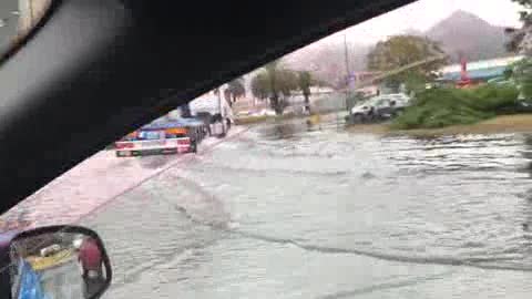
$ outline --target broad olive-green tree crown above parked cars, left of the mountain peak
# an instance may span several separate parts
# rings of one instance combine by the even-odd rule
[[[385,79],[385,83],[396,90],[410,78],[416,78],[417,81],[429,80],[432,72],[446,63],[447,55],[437,42],[417,35],[391,37],[377,43],[368,54],[368,69],[371,71],[386,73],[407,68]],[[409,65],[416,66],[408,68]]]

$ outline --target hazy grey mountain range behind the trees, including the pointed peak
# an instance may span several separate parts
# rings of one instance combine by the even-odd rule
[[[468,61],[508,54],[504,44],[509,38],[505,35],[504,29],[464,11],[452,13],[428,31],[422,32],[411,28],[398,34],[428,37],[440,42],[441,48],[451,56],[451,62],[458,62],[460,53],[463,53]],[[348,43],[350,71],[365,71],[367,55],[375,44],[359,44],[356,40],[350,40]],[[324,39],[309,44],[286,55],[283,62],[294,70],[311,71],[319,79],[332,85],[339,85],[345,80],[346,56],[344,42],[340,39]]]

